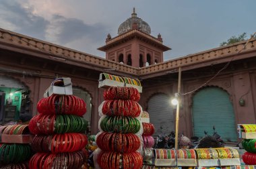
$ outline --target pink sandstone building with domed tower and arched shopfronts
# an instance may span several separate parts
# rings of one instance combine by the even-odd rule
[[[135,11],[121,23],[118,35],[106,38],[100,58],[57,44],[0,29],[0,121],[36,115],[36,104],[56,77],[70,77],[73,94],[88,105],[90,132],[98,131],[98,89],[101,72],[139,78],[144,111],[155,134],[174,131],[175,107],[181,67],[179,132],[188,137],[212,134],[212,126],[226,142],[237,142],[236,125],[256,122],[256,40],[213,48],[174,60],[163,60],[170,50],[163,39],[151,35],[150,25]],[[220,71],[221,70],[221,71]],[[211,80],[210,80],[211,79]]]

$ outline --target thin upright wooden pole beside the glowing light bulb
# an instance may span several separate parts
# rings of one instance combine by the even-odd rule
[[[178,104],[176,111],[176,127],[175,127],[175,150],[178,150],[178,136],[179,136],[179,113],[180,113],[180,93],[181,93],[181,67],[179,67],[179,80],[178,80]]]

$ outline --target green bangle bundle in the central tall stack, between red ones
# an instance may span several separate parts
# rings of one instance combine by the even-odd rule
[[[106,116],[100,122],[100,128],[110,133],[137,133],[140,121],[134,117]]]

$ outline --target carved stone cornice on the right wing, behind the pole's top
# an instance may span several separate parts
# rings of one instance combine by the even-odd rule
[[[139,71],[141,78],[150,78],[153,76],[163,75],[169,72],[177,72],[177,68],[183,67],[183,70],[210,66],[210,64],[219,64],[231,60],[241,60],[244,58],[256,57],[256,39],[248,42],[245,49],[246,41],[238,42],[220,48],[206,50],[196,54],[168,60],[159,64],[143,67]]]

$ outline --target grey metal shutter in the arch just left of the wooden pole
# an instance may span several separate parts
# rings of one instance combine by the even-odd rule
[[[170,105],[170,97],[164,94],[154,95],[148,101],[148,113],[150,115],[150,123],[155,127],[154,135],[161,133],[169,134],[174,131],[174,115]]]

